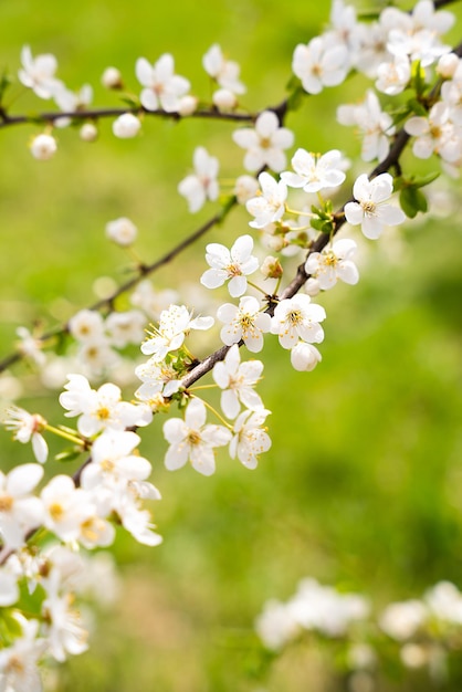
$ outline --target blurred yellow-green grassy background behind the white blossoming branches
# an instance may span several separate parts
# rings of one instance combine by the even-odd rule
[[[243,105],[261,109],[284,97],[293,49],[325,27],[328,6],[7,1],[0,7],[0,63],[14,75],[28,43],[34,55],[57,56],[67,86],[91,83],[95,106],[118,105],[117,95],[99,85],[104,69],[119,67],[137,93],[136,59],[155,62],[168,51],[192,91],[208,97],[201,57],[218,42],[241,64]],[[460,2],[454,11],[460,20]],[[459,40],[455,28],[448,41]],[[358,143],[335,125],[335,109],[359,98],[364,87],[361,78],[353,80],[306,99],[286,123],[296,146],[337,147],[355,157]],[[20,91],[13,87],[11,96]],[[11,113],[48,107],[22,94]],[[108,220],[133,219],[140,231],[137,252],[150,262],[208,219],[216,207],[191,217],[176,187],[199,144],[220,158],[223,178],[242,172],[234,127],[145,118],[138,138],[118,140],[105,122],[95,144],[69,128],[57,133],[59,153],[46,162],[33,160],[27,146],[39,127],[2,129],[1,355],[11,352],[19,325],[53,326],[95,300],[97,277],[126,279],[130,261],[107,243]],[[405,167],[412,172],[422,164],[408,156]],[[444,189],[439,181],[434,187]],[[339,285],[319,298],[328,318],[323,363],[314,373],[295,373],[288,353],[269,339],[260,392],[273,411],[273,447],[258,470],[221,455],[210,479],[189,468],[168,473],[162,419],[143,434],[141,452],[153,461],[164,496],[155,518],[165,542],[149,549],[119,537],[123,595],[98,621],[90,652],[65,664],[53,689],[340,690],[328,648],[319,652],[314,643],[261,672],[253,620],[265,599],[287,598],[304,576],[368,594],[378,606],[419,597],[443,578],[462,587],[458,191],[455,182],[444,202],[449,217],[409,222],[377,243],[361,243],[358,286]],[[235,211],[207,242],[229,244],[248,232],[248,220]],[[355,238],[360,240],[357,230]],[[156,274],[156,286],[181,290],[197,282],[204,244]],[[25,408],[63,422],[25,366],[12,373],[30,381]],[[1,444],[6,468],[30,460],[30,450],[8,433]],[[382,681],[379,689],[432,689],[416,675],[390,686]],[[46,680],[51,685],[52,675]],[[462,689],[462,678],[453,672],[448,685]]]

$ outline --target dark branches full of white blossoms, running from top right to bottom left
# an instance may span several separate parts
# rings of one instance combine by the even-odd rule
[[[180,412],[162,426],[168,470],[190,463],[202,475],[211,475],[219,448],[228,448],[232,459],[255,469],[260,454],[271,447],[266,428],[270,411],[256,391],[264,366],[255,358],[243,361],[240,347],[259,354],[266,335],[272,334],[290,352],[296,370],[316,367],[322,359],[317,346],[324,339],[326,312],[312,297],[332,290],[338,281],[354,285],[359,280],[354,263],[356,242],[349,238],[337,240],[340,228],[346,223],[360,226],[366,239],[376,240],[386,227],[398,226],[406,216],[427,209],[421,188],[434,174],[406,174],[401,154],[408,144],[412,143],[417,158],[435,155],[449,175],[460,168],[462,61],[460,49],[454,52],[442,43],[441,36],[453,23],[452,14],[435,11],[442,4],[420,0],[412,13],[387,8],[377,21],[366,23],[358,20],[353,7],[336,0],[330,28],[308,44],[295,48],[288,98],[255,114],[240,112],[239,98],[245,87],[239,65],[225,59],[217,44],[202,60],[217,87],[212,105],[202,107],[199,98],[189,93],[189,81],[176,74],[172,55],[165,54],[154,64],[145,57],[136,61],[141,91],[139,96],[129,95],[130,105],[123,112],[88,108],[91,87],[71,92],[55,76],[53,55],[33,57],[28,46],[22,50],[19,81],[39,98],[53,98],[60,112],[33,117],[11,115],[4,105],[9,87],[3,82],[0,126],[45,124],[45,130],[31,144],[36,159],[55,155],[53,127],[66,127],[72,122],[85,120],[81,137],[90,141],[97,137],[96,120],[103,117],[115,118],[114,135],[127,139],[139,133],[145,115],[217,117],[249,125],[234,132],[233,141],[244,150],[243,167],[251,175],[238,178],[229,202],[206,224],[159,261],[150,265],[138,262],[134,277],[108,298],[80,311],[60,329],[69,333],[80,348],[75,368],[66,368],[59,399],[64,416],[76,419],[74,428],[51,424],[41,415],[14,405],[4,416],[4,426],[13,438],[32,444],[38,463],[17,466],[8,474],[0,472],[0,606],[4,608],[2,629],[7,639],[0,652],[1,685],[39,690],[36,663],[43,656],[63,661],[87,648],[84,623],[73,607],[75,586],[69,578],[73,549],[109,548],[117,530],[127,531],[147,546],[160,543],[148,508],[149,501],[160,499],[160,492],[148,480],[151,463],[137,449],[139,433],[151,423],[154,415],[169,413],[175,406]],[[353,197],[345,195],[348,201],[334,211],[332,195],[346,184],[348,161],[337,149],[321,155],[297,148],[291,159],[292,169],[287,170],[286,151],[294,136],[285,127],[285,116],[295,109],[301,96],[339,85],[354,70],[372,80],[375,88],[361,103],[340,106],[337,119],[359,130],[361,159],[377,165],[369,175],[359,175]],[[109,88],[126,91],[116,69],[108,69],[103,82]],[[377,92],[390,99],[388,111],[382,109]],[[218,159],[203,146],[196,148],[193,172],[178,185],[192,213],[219,198],[219,167]],[[391,201],[398,190],[400,207]],[[294,208],[291,197],[295,203],[303,197],[300,208]],[[214,318],[202,314],[203,310],[196,314],[171,293],[158,300],[141,280],[224,220],[237,203],[245,205],[252,217],[251,231],[230,248],[221,243],[206,248],[208,269],[200,283],[213,291],[227,286],[234,302],[222,303],[217,310],[222,345],[200,359],[195,355],[195,334],[211,329]],[[109,222],[106,231],[126,248],[132,248],[137,233],[126,218]],[[264,252],[273,254],[259,256],[250,234],[255,231]],[[282,287],[283,265],[293,259],[298,268]],[[263,285],[254,277],[258,271]],[[133,289],[136,310],[115,311],[118,296]],[[55,334],[35,338],[22,331],[20,352],[4,359],[3,367],[19,359],[20,353],[43,367],[41,346]],[[108,366],[119,363],[117,349],[129,344],[140,344],[147,359],[130,364],[137,388],[133,400],[126,401],[114,381],[95,388],[91,380],[112,378],[114,373]],[[219,392],[219,408],[202,396],[209,385],[196,385],[208,373],[213,380],[210,387]],[[66,445],[59,459],[84,453],[86,461],[74,478],[57,474],[41,485],[49,434],[62,438]],[[49,539],[54,543],[52,547],[46,544]],[[25,590],[31,595],[28,612],[21,600]]]

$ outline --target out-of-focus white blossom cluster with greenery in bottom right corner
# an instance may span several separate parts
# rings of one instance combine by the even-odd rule
[[[350,689],[375,689],[375,677],[390,654],[408,669],[427,668],[444,679],[447,659],[460,656],[462,593],[451,581],[439,581],[422,598],[372,609],[368,598],[323,586],[305,578],[287,601],[266,601],[255,619],[263,646],[281,652],[307,632],[342,644],[339,657],[353,674]],[[357,686],[355,681],[357,680]],[[363,683],[360,684],[360,681]]]

